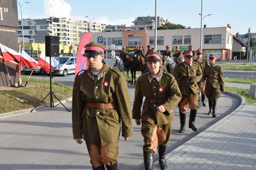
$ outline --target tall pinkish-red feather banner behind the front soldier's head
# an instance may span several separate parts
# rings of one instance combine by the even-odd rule
[[[83,57],[84,54],[84,45],[88,44],[90,42],[90,36],[91,33],[87,32],[83,35],[83,37],[80,40],[77,56],[76,56],[76,76],[83,73],[82,70],[86,70],[87,67],[87,57]]]

